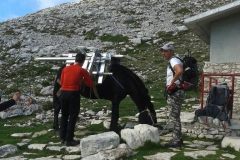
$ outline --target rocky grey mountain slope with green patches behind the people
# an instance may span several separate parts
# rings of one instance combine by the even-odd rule
[[[159,46],[169,41],[180,54],[190,48],[200,61],[207,59],[208,46],[184,27],[183,20],[230,2],[83,0],[0,23],[0,88],[5,93],[15,89],[39,93],[52,83],[52,72],[62,62],[36,63],[34,57],[77,52],[81,46],[134,56],[138,65],[129,63],[142,72],[159,69]],[[153,75],[150,79],[156,79]]]

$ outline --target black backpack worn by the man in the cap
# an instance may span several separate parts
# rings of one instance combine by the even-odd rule
[[[197,60],[192,57],[191,52],[188,51],[188,55],[185,55],[183,59],[178,58],[182,63],[183,63],[183,75],[182,75],[182,80],[179,79],[181,82],[181,87],[185,91],[191,91],[191,90],[197,90],[198,86],[198,67],[197,67]],[[170,69],[173,72],[173,75],[175,74],[172,66],[169,64]]]

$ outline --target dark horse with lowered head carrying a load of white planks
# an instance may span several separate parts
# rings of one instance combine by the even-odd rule
[[[53,104],[54,104],[54,124],[55,130],[59,129],[58,114],[60,111],[57,92],[61,87],[58,83],[61,76],[61,67],[57,73],[57,77],[54,82],[53,90]],[[97,84],[95,91],[98,94],[94,94],[93,88],[89,88],[86,85],[81,85],[80,94],[90,99],[106,99],[112,102],[112,115],[110,131],[118,132],[118,119],[119,119],[119,104],[127,96],[130,95],[139,111],[139,123],[155,125],[157,123],[156,112],[151,98],[148,95],[148,90],[143,84],[142,80],[128,68],[113,63],[109,70],[112,75],[107,75],[102,84]]]

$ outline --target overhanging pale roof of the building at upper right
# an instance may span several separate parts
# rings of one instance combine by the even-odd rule
[[[210,44],[211,22],[240,12],[240,0],[218,7],[184,20],[185,25],[192,29],[206,44]]]

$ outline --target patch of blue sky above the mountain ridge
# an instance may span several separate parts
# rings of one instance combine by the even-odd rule
[[[0,0],[0,22],[67,2],[79,0]]]

